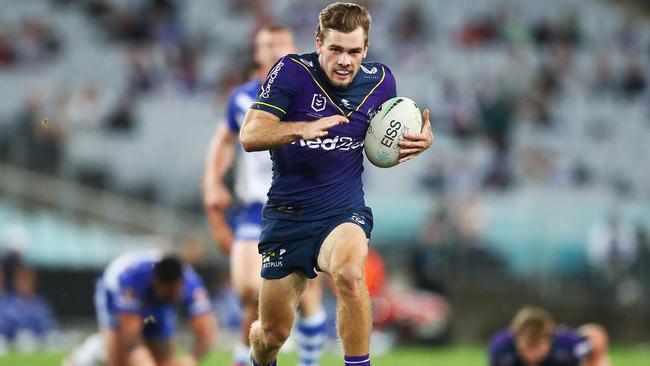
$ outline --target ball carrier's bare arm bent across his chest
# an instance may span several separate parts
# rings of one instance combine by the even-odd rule
[[[250,109],[239,132],[239,140],[246,151],[270,150],[300,139],[309,141],[327,136],[327,130],[348,122],[340,114],[313,122],[284,122],[273,113]]]

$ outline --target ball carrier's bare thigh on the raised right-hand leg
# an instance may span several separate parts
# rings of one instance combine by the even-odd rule
[[[325,238],[318,254],[318,267],[335,275],[345,264],[362,268],[368,256],[368,239],[363,229],[345,222]]]

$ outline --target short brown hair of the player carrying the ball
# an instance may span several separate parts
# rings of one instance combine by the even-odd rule
[[[316,38],[323,40],[325,33],[330,29],[350,33],[361,27],[364,32],[364,41],[367,45],[371,24],[372,18],[368,9],[357,4],[337,2],[328,5],[318,15]]]

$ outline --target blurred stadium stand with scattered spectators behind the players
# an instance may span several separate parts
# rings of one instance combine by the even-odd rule
[[[474,314],[459,329],[483,333],[459,339],[525,302],[647,337],[630,325],[650,322],[649,18],[614,1],[364,3],[369,57],[431,108],[436,136],[421,158],[366,170],[389,268]],[[311,51],[321,7],[0,0],[0,237],[22,230],[26,260],[54,272],[188,234],[212,248],[202,165],[253,30],[286,22]],[[608,277],[588,238],[612,215],[638,250]]]

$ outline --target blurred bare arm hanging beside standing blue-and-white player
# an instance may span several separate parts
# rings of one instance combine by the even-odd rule
[[[217,244],[229,253],[233,235],[226,220],[231,195],[223,183],[223,177],[232,166],[237,136],[222,123],[210,142],[203,174],[203,205]]]

